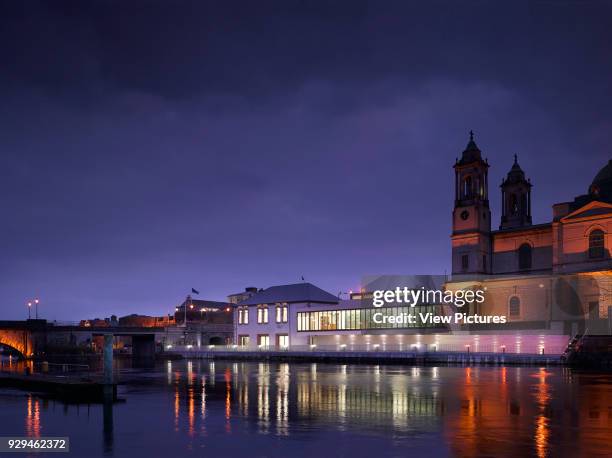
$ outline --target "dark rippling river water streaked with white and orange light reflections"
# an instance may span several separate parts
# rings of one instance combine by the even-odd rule
[[[69,436],[79,457],[612,455],[605,374],[174,361],[125,377],[112,407],[2,390],[0,435]]]

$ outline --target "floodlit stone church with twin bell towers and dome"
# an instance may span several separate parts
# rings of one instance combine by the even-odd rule
[[[452,277],[448,289],[482,288],[471,313],[501,314],[491,332],[609,333],[612,306],[612,161],[587,192],[552,206],[533,224],[532,184],[514,157],[501,184],[501,218],[493,229],[489,164],[473,134],[454,165]],[[610,317],[612,318],[612,317]]]

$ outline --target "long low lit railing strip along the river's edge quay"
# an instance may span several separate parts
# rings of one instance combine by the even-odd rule
[[[289,347],[241,346],[241,345],[167,345],[165,351],[203,353],[203,352],[381,352],[381,353],[489,353],[489,354],[530,354],[561,355],[565,346],[520,346],[520,345],[460,345],[460,344],[420,344],[420,345],[291,345]]]

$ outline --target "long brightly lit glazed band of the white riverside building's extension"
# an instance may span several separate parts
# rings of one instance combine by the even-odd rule
[[[301,331],[352,331],[367,329],[439,328],[440,324],[423,323],[420,313],[442,315],[441,305],[420,307],[376,307],[347,310],[298,312],[297,330]],[[408,315],[414,317],[413,322]],[[400,318],[401,317],[401,318]]]

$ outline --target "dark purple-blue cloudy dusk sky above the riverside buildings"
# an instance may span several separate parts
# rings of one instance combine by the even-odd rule
[[[534,223],[612,158],[612,2],[2,2],[3,319],[450,269],[473,129]]]

